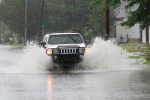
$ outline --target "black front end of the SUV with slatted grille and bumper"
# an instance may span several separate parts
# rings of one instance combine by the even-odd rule
[[[79,47],[58,47],[52,49],[52,60],[54,63],[64,64],[76,64],[83,60],[85,48]]]

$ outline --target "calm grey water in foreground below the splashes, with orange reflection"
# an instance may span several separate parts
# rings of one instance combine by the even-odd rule
[[[150,100],[149,94],[147,70],[0,74],[0,100]]]

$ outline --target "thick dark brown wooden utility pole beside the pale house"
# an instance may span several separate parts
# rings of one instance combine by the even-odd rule
[[[104,7],[108,4],[108,0],[105,1]],[[104,40],[109,39],[109,8],[104,12]]]

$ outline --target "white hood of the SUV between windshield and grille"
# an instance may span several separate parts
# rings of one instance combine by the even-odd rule
[[[81,44],[57,44],[57,45],[51,45],[51,44],[47,44],[46,48],[57,48],[57,47],[85,47],[85,43],[81,43]]]

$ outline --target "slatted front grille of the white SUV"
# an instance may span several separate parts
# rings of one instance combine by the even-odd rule
[[[60,48],[59,54],[77,54],[78,49],[77,48]]]

